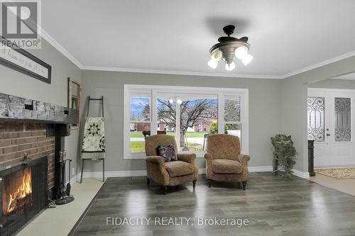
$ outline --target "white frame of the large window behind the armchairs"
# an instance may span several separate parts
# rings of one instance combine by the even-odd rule
[[[124,159],[144,159],[146,153],[131,153],[131,94],[151,94],[151,135],[155,135],[158,130],[157,123],[157,97],[160,93],[171,94],[204,94],[217,96],[218,99],[218,133],[224,133],[224,97],[240,96],[240,122],[241,126],[241,152],[249,154],[249,89],[231,89],[231,88],[209,88],[192,86],[160,86],[160,85],[138,85],[124,84]],[[177,106],[177,116],[180,115]],[[177,120],[178,117],[177,117]],[[227,122],[230,123],[230,122]],[[180,122],[177,123],[180,125]],[[180,130],[179,127],[176,127]],[[197,157],[204,157],[205,152],[194,152]]]

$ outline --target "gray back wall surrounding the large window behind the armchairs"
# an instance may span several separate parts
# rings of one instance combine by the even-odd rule
[[[249,152],[251,155],[249,166],[271,166],[273,149],[270,137],[281,131],[281,82],[278,79],[237,79],[99,71],[83,71],[82,77],[83,96],[105,97],[107,171],[146,169],[144,159],[123,158],[124,84],[248,88]],[[86,104],[82,104],[83,106],[86,107]],[[92,103],[90,103],[90,111],[92,111],[92,116],[99,114],[99,108],[92,106]],[[197,164],[199,168],[204,168],[204,158],[198,158]],[[85,162],[84,172],[101,171],[101,169],[101,162],[90,164]]]

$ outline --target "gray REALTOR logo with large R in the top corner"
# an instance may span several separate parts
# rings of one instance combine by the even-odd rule
[[[40,48],[38,33],[39,1],[0,1],[1,40],[7,46],[21,48]],[[11,43],[11,45],[9,45]],[[0,45],[0,47],[2,46]]]

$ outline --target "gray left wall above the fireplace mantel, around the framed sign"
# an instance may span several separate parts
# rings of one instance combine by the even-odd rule
[[[0,64],[0,92],[67,106],[67,77],[82,81],[82,71],[45,40],[40,50],[27,50],[52,66],[52,84],[46,84],[26,74]],[[72,167],[77,168],[77,142],[79,130],[72,130],[65,137],[65,150],[72,158]]]

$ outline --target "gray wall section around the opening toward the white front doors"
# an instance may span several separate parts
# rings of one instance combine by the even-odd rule
[[[354,71],[355,57],[349,57],[282,80],[282,130],[293,136],[297,150],[295,169],[307,172],[307,87]]]

